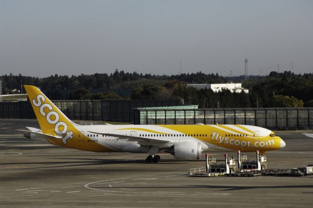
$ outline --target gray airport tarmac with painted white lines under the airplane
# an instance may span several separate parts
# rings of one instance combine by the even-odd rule
[[[14,129],[32,120],[0,120],[0,208],[312,207],[313,177],[188,177],[201,161],[160,154],[92,153],[18,137]],[[33,125],[32,125],[33,124]],[[37,123],[38,125],[38,123]],[[5,129],[4,129],[5,128]],[[268,152],[268,168],[313,163],[313,138],[279,135],[281,150]],[[211,153],[221,162],[224,152]],[[228,153],[236,156],[236,153]],[[254,158],[254,153],[246,154]]]

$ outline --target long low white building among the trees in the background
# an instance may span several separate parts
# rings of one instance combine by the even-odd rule
[[[249,90],[241,87],[241,83],[226,83],[226,84],[187,84],[188,87],[194,87],[197,89],[211,89],[213,92],[220,92],[223,89],[230,90],[230,92],[248,93]]]

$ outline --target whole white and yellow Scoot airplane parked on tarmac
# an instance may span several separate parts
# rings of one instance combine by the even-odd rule
[[[158,152],[177,159],[199,160],[201,152],[265,153],[285,147],[272,131],[249,125],[78,125],[65,116],[38,88],[24,85],[40,129],[27,127],[32,139],[92,152],[145,153],[158,162]]]

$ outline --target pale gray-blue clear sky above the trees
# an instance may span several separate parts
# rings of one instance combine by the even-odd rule
[[[0,75],[313,72],[313,0],[0,0]]]

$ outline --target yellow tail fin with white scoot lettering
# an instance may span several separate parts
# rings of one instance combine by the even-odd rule
[[[62,142],[67,144],[67,139],[73,139],[77,133],[74,123],[71,122],[38,88],[24,85],[35,115],[43,133],[62,136]]]

